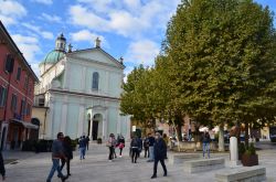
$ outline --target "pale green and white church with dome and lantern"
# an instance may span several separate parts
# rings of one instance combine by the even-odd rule
[[[130,135],[130,118],[119,110],[124,78],[123,60],[116,60],[100,47],[65,50],[61,34],[55,50],[40,64],[40,84],[35,86],[33,118],[41,122],[40,138],[55,139],[62,131],[72,139],[83,135],[91,140],[107,139],[109,133]],[[44,108],[44,117],[35,110]],[[42,111],[43,114],[43,111]]]

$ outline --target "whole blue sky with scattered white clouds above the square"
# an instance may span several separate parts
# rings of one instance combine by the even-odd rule
[[[276,12],[276,0],[255,0]],[[167,23],[181,0],[0,0],[0,20],[39,75],[39,64],[63,33],[74,50],[95,46],[124,57],[125,74],[152,66]],[[274,22],[276,19],[274,19]]]

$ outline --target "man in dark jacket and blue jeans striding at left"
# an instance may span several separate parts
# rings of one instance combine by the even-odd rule
[[[61,178],[61,180],[64,182],[65,180],[67,180],[68,175],[63,175],[62,171],[61,171],[61,167],[60,167],[60,159],[64,158],[66,159],[65,154],[64,154],[64,149],[63,149],[63,144],[62,144],[62,140],[63,140],[63,133],[59,132],[57,133],[57,139],[53,141],[52,143],[52,169],[47,175],[47,180],[46,182],[51,182],[54,172],[57,171],[57,176]]]

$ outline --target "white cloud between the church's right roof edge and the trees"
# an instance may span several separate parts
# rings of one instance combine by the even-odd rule
[[[126,54],[126,62],[136,65],[144,64],[151,66],[155,64],[155,58],[159,54],[159,45],[150,40],[141,40],[132,42]]]

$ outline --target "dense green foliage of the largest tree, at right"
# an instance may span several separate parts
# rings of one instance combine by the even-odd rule
[[[275,113],[275,47],[267,8],[251,0],[182,1],[163,42],[179,105],[213,125],[254,121],[267,107]]]

